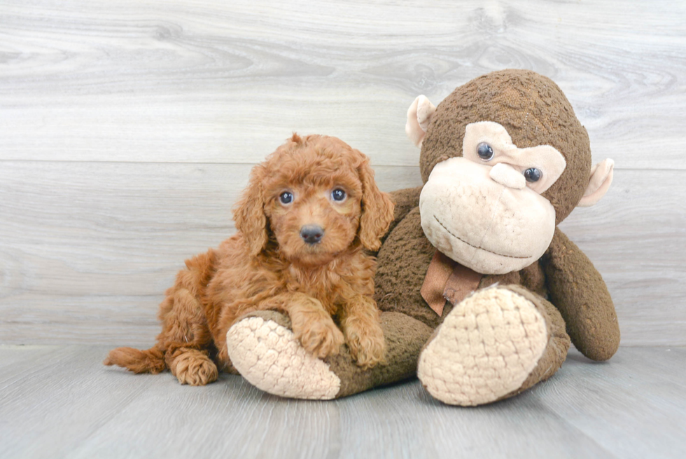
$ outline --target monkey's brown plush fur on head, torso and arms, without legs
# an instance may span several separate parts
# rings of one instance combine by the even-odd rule
[[[462,156],[465,125],[478,121],[500,123],[520,148],[547,144],[563,154],[565,171],[542,193],[555,208],[556,223],[563,221],[589,182],[591,147],[561,89],[533,71],[512,69],[479,76],[456,88],[437,106],[423,139],[419,167],[425,183],[437,163]],[[405,313],[438,327],[452,305],[448,301],[438,317],[420,294],[435,252],[421,228],[420,192],[421,187],[391,193],[395,220],[379,251],[374,294],[381,310]],[[555,323],[565,324],[572,342],[587,357],[605,360],[617,351],[619,326],[605,282],[559,229],[540,260],[516,272],[484,275],[479,288],[496,282],[521,285],[548,298],[564,319]]]

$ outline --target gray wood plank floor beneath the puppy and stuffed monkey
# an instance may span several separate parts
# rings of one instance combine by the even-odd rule
[[[100,363],[102,346],[0,346],[0,458],[684,458],[686,348],[570,352],[549,381],[490,406],[408,381],[332,402],[240,376],[205,388]]]

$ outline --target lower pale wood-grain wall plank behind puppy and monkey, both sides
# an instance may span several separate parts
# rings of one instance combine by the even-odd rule
[[[235,231],[230,209],[250,167],[4,165],[0,342],[119,345],[151,345],[183,260]],[[421,183],[416,167],[377,176],[387,190]],[[608,283],[624,345],[686,345],[686,212],[671,192],[685,181],[681,170],[619,171],[598,205],[561,225]]]

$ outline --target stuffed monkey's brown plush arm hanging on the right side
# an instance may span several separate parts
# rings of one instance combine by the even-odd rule
[[[565,320],[575,347],[589,359],[612,357],[619,346],[617,313],[593,263],[558,228],[541,263],[550,301]]]

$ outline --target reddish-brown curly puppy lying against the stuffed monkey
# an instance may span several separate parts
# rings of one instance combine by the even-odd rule
[[[236,372],[228,329],[265,309],[287,313],[316,357],[337,354],[345,342],[359,366],[384,361],[372,299],[376,262],[364,250],[379,249],[393,203],[363,153],[335,137],[294,134],[253,167],[234,219],[237,233],[187,260],[167,290],[155,346],[117,348],[104,364],[135,373],[168,368],[182,384],[211,383],[218,368]]]

